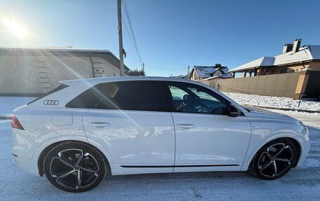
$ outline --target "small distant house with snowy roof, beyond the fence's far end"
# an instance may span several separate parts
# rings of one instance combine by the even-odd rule
[[[227,67],[215,64],[215,66],[194,66],[189,75],[189,79],[193,81],[213,78],[232,78],[232,74]]]

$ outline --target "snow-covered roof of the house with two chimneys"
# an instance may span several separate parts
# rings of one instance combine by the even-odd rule
[[[297,53],[292,54],[291,51],[275,57],[260,57],[257,60],[248,62],[239,67],[229,70],[229,72],[243,71],[246,69],[254,69],[255,67],[272,67],[282,64],[291,64],[295,62],[303,62],[307,60],[320,60],[320,46],[302,46]]]

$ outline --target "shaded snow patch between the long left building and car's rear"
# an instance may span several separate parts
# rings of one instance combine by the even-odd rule
[[[35,97],[0,97],[0,116],[11,116],[13,109],[31,102]]]

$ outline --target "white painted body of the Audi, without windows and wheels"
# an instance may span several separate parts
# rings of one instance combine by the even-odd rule
[[[140,80],[202,85],[227,99],[244,116],[65,107],[67,102],[98,83]],[[280,137],[298,141],[299,162],[309,151],[307,130],[298,120],[276,113],[247,111],[202,83],[158,77],[93,78],[61,83],[69,87],[13,111],[25,129],[13,128],[13,158],[30,174],[39,175],[38,160],[48,146],[65,140],[84,141],[98,148],[109,161],[113,175],[246,171],[255,153]],[[44,105],[46,99],[58,100],[59,104]],[[135,165],[141,167],[125,167]]]

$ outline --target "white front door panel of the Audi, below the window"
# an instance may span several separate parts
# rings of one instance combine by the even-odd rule
[[[251,125],[246,116],[173,113],[176,165],[234,164],[246,156]],[[176,168],[175,170],[178,170]]]

